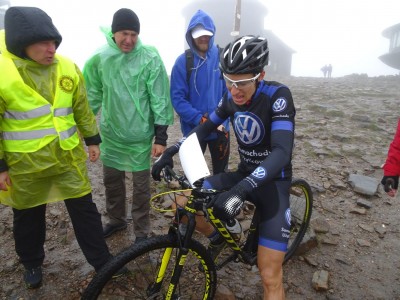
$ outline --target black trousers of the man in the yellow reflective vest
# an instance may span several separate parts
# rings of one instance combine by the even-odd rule
[[[64,201],[71,218],[75,236],[86,260],[95,270],[110,259],[111,254],[103,237],[101,216],[92,194]],[[43,264],[46,239],[46,204],[14,212],[15,250],[25,268]]]

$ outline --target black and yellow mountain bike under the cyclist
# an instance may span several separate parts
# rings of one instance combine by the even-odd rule
[[[165,200],[177,203],[186,197],[187,204],[177,207],[168,234],[151,237],[133,244],[116,255],[92,279],[82,299],[213,299],[217,286],[217,270],[230,262],[255,265],[257,262],[258,222],[257,208],[250,227],[242,241],[231,234],[226,223],[213,215],[207,204],[217,191],[193,187],[186,177],[177,175],[169,167],[164,169],[164,180],[176,180],[181,190],[168,190],[152,198],[152,207],[159,211]],[[310,222],[313,196],[309,184],[294,179],[290,188],[291,226],[288,250],[289,260],[300,245]],[[195,232],[195,216],[202,212],[208,221],[225,238],[224,256],[213,261]],[[181,229],[186,218],[186,230]],[[228,253],[226,253],[228,252]],[[222,255],[221,255],[222,256]],[[129,272],[113,279],[122,267]]]

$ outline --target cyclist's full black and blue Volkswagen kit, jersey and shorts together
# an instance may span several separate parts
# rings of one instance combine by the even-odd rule
[[[244,178],[252,182],[250,201],[260,210],[259,244],[286,251],[290,228],[289,188],[296,111],[288,87],[262,81],[252,99],[236,105],[226,93],[204,126],[199,140],[230,118],[238,143],[238,171],[204,181],[206,188],[229,189]]]

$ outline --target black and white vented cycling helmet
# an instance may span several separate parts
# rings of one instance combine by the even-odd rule
[[[260,73],[268,64],[268,54],[267,39],[243,36],[223,49],[219,67],[225,74]]]

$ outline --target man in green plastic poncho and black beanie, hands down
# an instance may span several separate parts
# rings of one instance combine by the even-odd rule
[[[86,62],[83,75],[90,106],[101,109],[108,237],[125,229],[125,172],[132,172],[132,219],[136,242],[150,233],[150,158],[165,150],[173,123],[169,81],[158,51],[139,39],[140,22],[130,9],[113,16],[111,30],[102,28],[107,44]],[[154,142],[153,142],[154,140]]]

